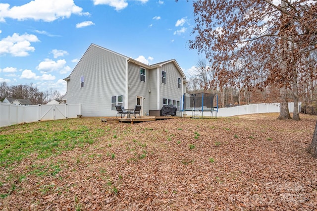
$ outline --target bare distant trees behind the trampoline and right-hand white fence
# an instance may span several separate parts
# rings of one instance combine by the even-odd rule
[[[308,74],[301,74],[305,79],[298,83],[298,98],[302,106],[317,106],[317,52],[313,51],[310,55],[311,68]],[[196,63],[195,75],[188,79],[187,92],[196,93],[207,91],[218,95],[219,107],[247,105],[255,103],[279,103],[280,88],[272,84],[266,86],[251,87],[243,83],[243,77],[235,78],[235,85],[219,86],[219,80],[215,69],[211,67],[211,62],[206,58],[201,58]],[[263,74],[262,78],[267,75]],[[305,81],[305,83],[304,83]],[[256,82],[254,82],[256,84]],[[288,90],[287,97],[290,102],[293,101],[293,93]]]

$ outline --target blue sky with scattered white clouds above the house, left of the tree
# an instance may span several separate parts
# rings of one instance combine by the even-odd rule
[[[63,95],[91,43],[149,64],[174,58],[188,78],[201,57],[187,43],[194,24],[186,0],[1,0],[0,82]]]

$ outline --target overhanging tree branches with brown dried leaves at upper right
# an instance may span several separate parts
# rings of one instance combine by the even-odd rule
[[[317,48],[316,1],[197,0],[191,49],[212,61],[220,87],[290,86]],[[284,62],[285,61],[285,62]],[[281,65],[284,62],[287,71]],[[316,77],[316,76],[315,76]],[[242,78],[238,81],[237,78]],[[304,77],[298,79],[304,80]],[[285,84],[284,84],[285,83]]]

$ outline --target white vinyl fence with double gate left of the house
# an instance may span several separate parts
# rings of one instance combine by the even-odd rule
[[[18,106],[0,103],[0,127],[43,120],[77,118],[77,115],[81,115],[80,104]]]

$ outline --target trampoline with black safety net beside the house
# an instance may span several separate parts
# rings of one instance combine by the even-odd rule
[[[216,96],[216,105],[213,105],[214,96]],[[200,118],[204,116],[204,111],[211,112],[211,117],[215,113],[217,118],[218,112],[218,96],[216,94],[200,92],[193,94],[184,94],[182,96],[182,115],[184,111],[191,111],[193,118]]]

